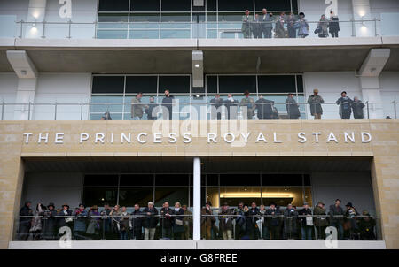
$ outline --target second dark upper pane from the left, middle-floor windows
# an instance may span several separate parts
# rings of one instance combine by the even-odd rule
[[[126,94],[138,93],[156,94],[157,93],[157,76],[127,76],[126,77]]]

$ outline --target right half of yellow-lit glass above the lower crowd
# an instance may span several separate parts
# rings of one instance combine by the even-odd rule
[[[263,205],[270,206],[275,202],[280,207],[286,207],[289,203],[293,206],[303,205],[302,187],[262,187]]]

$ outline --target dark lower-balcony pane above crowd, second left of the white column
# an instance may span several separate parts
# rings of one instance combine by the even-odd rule
[[[119,190],[119,204],[133,207],[136,203],[145,207],[153,201],[153,188],[121,188]]]

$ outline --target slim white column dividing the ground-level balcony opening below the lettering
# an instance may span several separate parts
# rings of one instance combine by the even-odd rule
[[[193,176],[194,176],[194,197],[193,197],[193,210],[192,210],[192,239],[201,239],[201,159],[200,157],[194,157],[193,164]]]

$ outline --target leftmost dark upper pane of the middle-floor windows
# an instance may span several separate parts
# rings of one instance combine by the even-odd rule
[[[93,94],[123,94],[123,76],[93,76]]]

